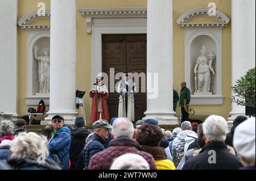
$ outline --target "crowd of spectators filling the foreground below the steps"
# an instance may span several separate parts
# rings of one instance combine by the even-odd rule
[[[0,123],[0,169],[14,170],[255,170],[255,117],[238,116],[228,132],[222,116],[204,123],[183,121],[173,131],[155,119],[97,120],[75,127],[52,117],[42,134],[26,132],[26,121]]]

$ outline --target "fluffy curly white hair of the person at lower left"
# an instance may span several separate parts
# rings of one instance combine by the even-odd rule
[[[21,154],[22,157],[38,158],[42,153],[47,157],[47,138],[33,132],[19,133],[11,142],[10,151],[15,155]]]

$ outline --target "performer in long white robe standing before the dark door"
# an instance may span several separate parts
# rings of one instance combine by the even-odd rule
[[[118,83],[119,93],[118,117],[127,117],[134,121],[134,99],[136,97],[136,86],[129,73],[123,73],[123,79]]]

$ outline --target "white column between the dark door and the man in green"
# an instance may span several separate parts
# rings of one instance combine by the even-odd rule
[[[163,18],[164,17],[164,18]],[[147,77],[147,111],[159,124],[177,124],[173,111],[173,39],[172,0],[147,1],[147,72],[158,73],[158,79]],[[154,89],[152,92],[149,90]]]

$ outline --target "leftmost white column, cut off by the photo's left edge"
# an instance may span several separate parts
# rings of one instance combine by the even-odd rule
[[[0,17],[0,111],[13,115],[15,120],[18,117],[18,1],[0,1]]]

